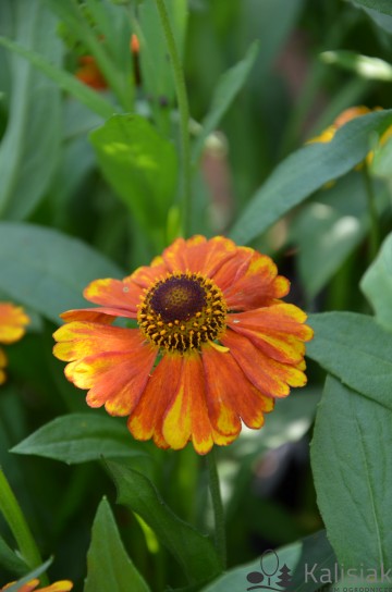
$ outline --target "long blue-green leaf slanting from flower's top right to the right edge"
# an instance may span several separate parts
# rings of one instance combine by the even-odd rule
[[[279,164],[250,200],[231,231],[237,243],[249,243],[316,189],[364,160],[369,136],[392,124],[392,110],[357,118],[338,131],[330,143],[315,143]]]

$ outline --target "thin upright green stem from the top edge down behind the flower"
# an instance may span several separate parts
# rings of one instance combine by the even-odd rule
[[[185,236],[189,233],[191,226],[191,147],[189,147],[189,107],[186,94],[184,71],[176,49],[174,35],[170,25],[164,0],[155,0],[173,67],[174,86],[180,111],[180,133],[182,152],[182,176],[181,176],[181,202],[183,232]]]

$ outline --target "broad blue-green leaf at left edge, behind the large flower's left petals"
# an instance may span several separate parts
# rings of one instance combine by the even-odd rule
[[[0,291],[58,324],[64,310],[89,306],[89,282],[124,275],[77,238],[16,222],[0,222]]]

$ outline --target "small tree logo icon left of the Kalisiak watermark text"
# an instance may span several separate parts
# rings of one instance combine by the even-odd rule
[[[277,592],[290,590],[291,569],[286,564],[279,568],[279,557],[273,550],[265,551],[260,567],[260,571],[250,571],[246,576],[247,581],[253,584],[246,590],[275,590]]]

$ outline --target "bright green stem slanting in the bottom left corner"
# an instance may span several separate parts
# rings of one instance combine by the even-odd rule
[[[27,526],[22,509],[14,496],[5,474],[0,469],[0,511],[15,538],[22,558],[32,569],[42,564],[42,559],[33,534]],[[49,583],[46,575],[41,576],[41,583]]]

